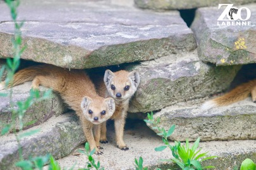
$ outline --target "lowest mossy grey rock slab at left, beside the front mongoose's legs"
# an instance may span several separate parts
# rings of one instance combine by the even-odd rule
[[[76,146],[85,141],[82,127],[75,114],[66,113],[52,117],[37,127],[23,131],[39,129],[39,133],[21,139],[23,158],[51,154],[56,157],[67,156]],[[20,135],[20,133],[18,133]],[[0,137],[0,169],[14,169],[19,160],[18,144],[14,134]]]

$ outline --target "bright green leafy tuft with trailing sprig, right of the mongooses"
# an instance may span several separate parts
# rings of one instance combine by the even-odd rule
[[[160,147],[156,147],[155,151],[162,151],[166,149],[166,147],[169,147],[169,149],[172,152],[173,158],[171,159],[164,159],[162,161],[168,161],[168,162],[174,162],[178,166],[181,167],[181,169],[185,170],[193,170],[193,169],[208,169],[208,168],[214,168],[214,166],[205,166],[202,167],[201,163],[207,159],[213,159],[216,156],[209,156],[207,157],[208,152],[200,153],[201,149],[198,149],[198,145],[200,142],[200,139],[198,138],[195,143],[190,147],[190,144],[188,140],[186,140],[186,144],[183,145],[181,142],[174,141],[174,145],[171,145],[168,141],[168,137],[171,136],[171,134],[174,132],[175,126],[171,126],[169,130],[166,132],[164,128],[160,128],[158,126],[160,119],[154,119],[153,113],[147,115],[148,120],[144,120],[147,123],[152,124],[154,129],[157,129],[159,133],[158,135],[162,136],[162,142],[164,142],[164,145]]]

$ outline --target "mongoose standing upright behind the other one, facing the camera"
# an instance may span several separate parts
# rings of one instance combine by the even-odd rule
[[[140,76],[137,71],[127,72],[122,70],[111,72],[106,70],[104,82],[97,83],[99,86],[96,85],[96,88],[100,96],[114,98],[116,110],[111,119],[114,120],[116,143],[119,149],[128,150],[129,148],[123,141],[125,118],[131,96],[137,91],[138,84],[140,84]],[[106,131],[106,122],[103,122],[101,124],[101,143],[107,143]]]

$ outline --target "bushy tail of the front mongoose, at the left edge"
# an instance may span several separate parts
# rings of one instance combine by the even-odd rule
[[[15,73],[13,76],[13,81],[9,82],[8,88],[11,86],[17,86],[23,82],[32,81],[35,76],[43,74],[43,69],[41,65],[28,67],[26,69],[22,69]],[[5,82],[0,83],[0,90],[5,88]]]

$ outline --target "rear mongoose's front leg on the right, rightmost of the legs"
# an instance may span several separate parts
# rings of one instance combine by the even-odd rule
[[[122,115],[125,115],[125,114],[122,114]],[[116,131],[116,144],[118,144],[118,147],[121,150],[129,149],[126,146],[125,142],[123,141],[123,132],[124,132],[124,128],[125,128],[125,117],[126,116],[119,116],[118,118],[114,119],[114,128]]]

